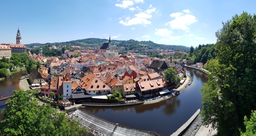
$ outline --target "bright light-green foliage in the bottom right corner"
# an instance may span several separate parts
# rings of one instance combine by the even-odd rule
[[[241,129],[239,129],[241,136],[256,135],[256,110],[251,110],[250,120],[247,118],[247,116],[244,116],[244,125],[246,132],[243,133]]]

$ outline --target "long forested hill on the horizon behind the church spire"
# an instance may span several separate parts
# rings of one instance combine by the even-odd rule
[[[81,46],[81,47],[92,47],[92,46],[101,46],[104,42],[108,42],[109,39],[100,39],[100,38],[87,38],[87,39],[81,39],[81,40],[74,40],[74,41],[68,41],[68,42],[55,42],[51,44],[55,45],[73,45],[73,46]],[[49,44],[49,43],[48,43]],[[31,45],[31,44],[30,44]],[[33,45],[33,44],[32,44]],[[36,44],[35,44],[36,45]],[[152,41],[135,41],[135,40],[111,40],[112,46],[117,47],[127,47],[127,50],[143,50],[143,47],[147,47],[149,50],[156,49],[156,48],[163,48],[168,50],[177,50],[180,51],[189,51],[190,47],[181,46],[181,45],[162,45],[157,44]]]

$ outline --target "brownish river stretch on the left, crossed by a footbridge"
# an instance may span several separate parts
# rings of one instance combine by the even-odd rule
[[[12,76],[5,78],[5,80],[0,81],[0,96],[5,96],[13,94],[12,90],[19,90],[20,78],[22,75],[27,74],[26,70],[16,72]],[[5,103],[7,100],[0,101],[0,111],[5,108]],[[0,119],[2,119],[3,114],[0,113]]]

